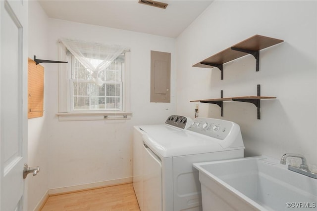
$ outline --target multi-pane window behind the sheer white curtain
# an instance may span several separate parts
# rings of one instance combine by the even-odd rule
[[[124,54],[118,56],[107,69],[98,73],[103,84],[94,82],[90,70],[85,68],[70,52],[70,106],[72,111],[108,110],[122,111],[122,70]],[[97,66],[99,59],[90,59]]]

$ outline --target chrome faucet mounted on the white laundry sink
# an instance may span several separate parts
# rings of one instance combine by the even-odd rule
[[[292,171],[295,171],[297,173],[300,173],[300,174],[304,174],[306,176],[309,176],[309,177],[312,177],[312,178],[315,178],[317,179],[317,174],[316,173],[313,173],[311,172],[309,169],[308,169],[308,165],[307,165],[307,162],[306,162],[306,158],[303,156],[303,155],[299,155],[299,154],[293,154],[293,153],[286,153],[282,156],[281,158],[281,164],[285,165],[286,164],[286,159],[288,157],[294,157],[294,158],[301,158],[302,159],[302,164],[300,167],[293,167],[291,165],[288,165],[288,169],[289,170],[292,170]]]

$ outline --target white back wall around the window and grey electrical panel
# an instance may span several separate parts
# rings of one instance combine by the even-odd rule
[[[161,124],[176,111],[175,39],[49,19],[49,59],[58,39],[122,44],[131,48],[131,120],[59,122],[57,65],[46,72],[49,189],[132,176],[134,125]],[[150,51],[171,53],[171,103],[150,103]]]

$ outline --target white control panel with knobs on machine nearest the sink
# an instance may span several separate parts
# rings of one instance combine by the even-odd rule
[[[220,140],[225,139],[233,127],[233,123],[212,118],[196,118],[188,130],[208,135]]]

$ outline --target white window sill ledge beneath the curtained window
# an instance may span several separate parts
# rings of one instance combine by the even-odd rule
[[[59,121],[130,120],[132,112],[69,112],[57,113]]]

